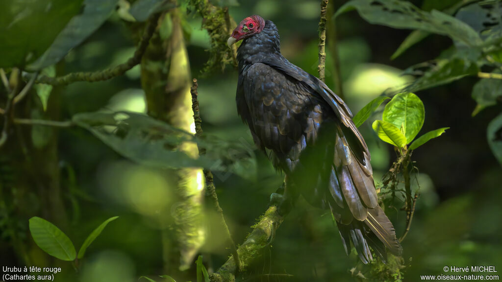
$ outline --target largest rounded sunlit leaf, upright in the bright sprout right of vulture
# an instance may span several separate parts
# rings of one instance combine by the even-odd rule
[[[413,93],[397,94],[385,106],[383,119],[402,129],[406,136],[406,144],[408,144],[412,142],[424,125],[424,104]]]

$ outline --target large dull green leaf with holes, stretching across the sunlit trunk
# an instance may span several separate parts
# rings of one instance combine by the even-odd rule
[[[79,113],[72,120],[118,154],[143,165],[203,167],[215,171],[215,176],[220,178],[226,178],[230,173],[248,179],[256,176],[255,147],[243,139],[238,143],[229,143],[213,136],[196,138],[190,132],[133,112]],[[196,143],[206,150],[206,154],[194,158],[193,154],[189,156],[178,150],[187,143]]]

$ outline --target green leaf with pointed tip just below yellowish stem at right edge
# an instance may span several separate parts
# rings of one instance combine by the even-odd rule
[[[497,101],[502,102],[502,80],[492,78],[480,79],[474,84],[471,95],[477,102],[476,110],[472,113],[474,116],[485,107],[495,105]]]

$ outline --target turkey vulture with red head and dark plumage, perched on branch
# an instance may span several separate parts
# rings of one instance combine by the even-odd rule
[[[352,241],[363,263],[372,260],[369,247],[384,262],[386,248],[401,255],[394,226],[378,204],[368,148],[347,105],[282,56],[273,22],[245,18],[227,44],[239,40],[237,111],[257,146],[286,174],[284,200],[302,194],[329,207],[345,252]]]

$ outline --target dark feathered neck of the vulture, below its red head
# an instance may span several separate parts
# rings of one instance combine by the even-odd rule
[[[246,66],[262,62],[271,56],[282,57],[281,44],[276,26],[267,21],[262,32],[244,39],[237,49],[239,71],[242,72]]]

